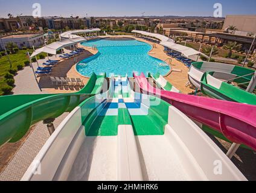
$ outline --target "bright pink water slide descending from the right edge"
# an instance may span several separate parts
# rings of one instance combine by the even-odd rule
[[[133,77],[143,92],[160,95],[191,119],[222,132],[232,142],[256,150],[256,106],[159,90],[149,84],[143,73]]]

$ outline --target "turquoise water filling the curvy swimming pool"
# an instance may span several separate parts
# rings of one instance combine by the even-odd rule
[[[85,46],[96,45],[98,54],[84,59],[76,66],[77,71],[90,77],[92,72],[100,74],[106,72],[109,77],[110,74],[125,76],[128,74],[132,77],[133,72],[148,72],[155,74],[159,72],[165,75],[170,71],[170,67],[162,60],[151,57],[148,52],[152,46],[139,42],[137,40],[112,40],[100,39],[91,40],[82,43]],[[162,65],[164,63],[164,65]]]

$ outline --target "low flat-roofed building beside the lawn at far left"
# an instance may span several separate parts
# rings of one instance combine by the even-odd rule
[[[0,42],[0,49],[4,49],[8,42],[13,42],[18,45],[21,49],[22,47],[32,48],[32,46],[41,46],[44,42],[43,34],[20,34],[12,35],[7,37],[2,37],[2,42]],[[2,45],[4,43],[4,45]]]

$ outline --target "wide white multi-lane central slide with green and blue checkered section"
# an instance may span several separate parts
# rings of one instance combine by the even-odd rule
[[[108,92],[80,104],[59,125],[22,180],[246,178],[178,109],[112,77]]]

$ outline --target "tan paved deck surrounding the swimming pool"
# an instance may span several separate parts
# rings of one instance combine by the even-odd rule
[[[138,41],[149,43],[150,45],[153,45],[152,42],[149,42],[144,39],[140,39],[135,36],[100,36],[102,38],[104,37],[132,37]],[[160,59],[162,61],[167,61],[170,59],[170,56],[168,56],[164,52],[164,46],[155,44],[156,47],[152,48],[152,50],[149,52],[149,55],[152,57],[155,57],[157,59]],[[74,58],[68,59],[68,60],[62,60],[62,62],[59,63],[56,67],[54,67],[53,72],[51,74],[52,77],[69,77],[69,78],[81,78],[83,82],[86,84],[89,78],[83,77],[82,75],[78,74],[75,70],[75,63],[79,62],[87,57],[90,57],[94,54],[97,54],[97,50],[94,50],[90,47],[86,47],[83,45],[79,45],[80,47],[83,47],[86,49],[86,51],[83,54],[80,54]],[[66,50],[65,52],[69,52]],[[183,63],[179,62],[176,59],[171,59],[171,65],[170,67],[172,69],[178,69],[181,70],[181,72],[172,71],[171,73],[168,73],[168,75],[165,77],[167,81],[169,81],[173,86],[175,86],[177,89],[181,90],[183,93],[191,93],[193,92],[190,87],[185,87],[185,85],[188,82],[188,68],[183,65]],[[40,62],[39,60],[39,63]],[[50,77],[39,77],[37,78],[40,87],[42,88],[43,92],[46,93],[71,93],[76,92],[79,89],[78,88],[72,88],[72,87],[62,87],[62,86],[53,86],[51,85]]]

